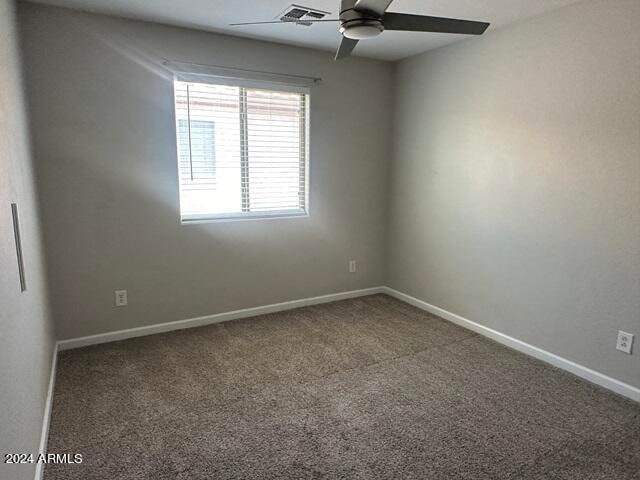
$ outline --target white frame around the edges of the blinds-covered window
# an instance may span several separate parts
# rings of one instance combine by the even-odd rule
[[[285,84],[280,82],[254,80],[250,78],[235,78],[216,75],[208,75],[202,73],[176,73],[174,74],[173,88],[173,108],[174,108],[174,125],[175,125],[175,141],[176,141],[176,165],[177,181],[178,181],[178,214],[181,225],[194,225],[203,223],[221,223],[221,222],[242,222],[251,220],[275,220],[275,219],[294,219],[306,218],[310,216],[309,205],[309,186],[310,186],[310,123],[311,123],[311,88],[303,85]],[[189,83],[203,83],[209,85],[226,85],[231,87],[240,87],[247,89],[271,90],[286,93],[297,93],[304,95],[304,208],[299,210],[270,210],[260,212],[229,212],[229,213],[208,213],[208,214],[183,214],[181,199],[181,180],[180,180],[180,159],[178,144],[178,114],[176,111],[176,81]],[[241,192],[239,192],[241,193]]]

